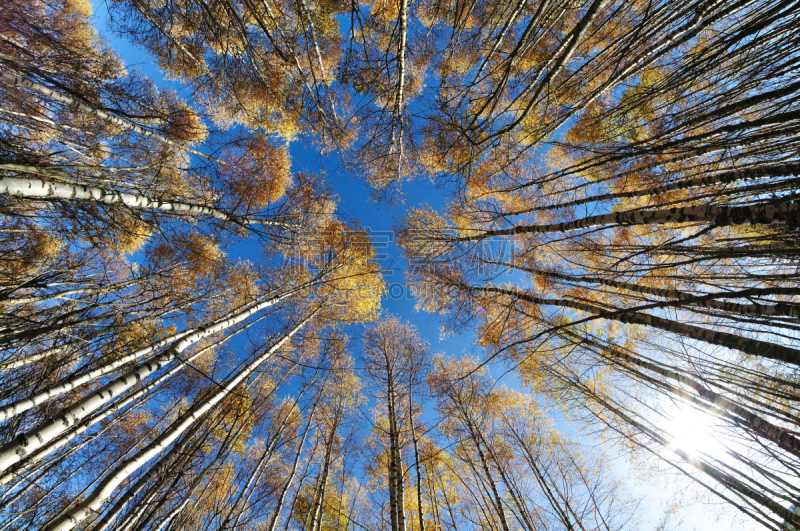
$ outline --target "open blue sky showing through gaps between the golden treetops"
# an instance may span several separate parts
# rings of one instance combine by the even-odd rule
[[[145,54],[133,47],[125,39],[113,35],[106,29],[107,9],[104,3],[95,0],[93,5],[95,24],[101,36],[120,54],[129,69],[140,69],[162,88],[171,88],[178,92],[183,92],[180,83],[165,80],[154,63]],[[349,175],[342,170],[335,157],[320,157],[317,153],[306,149],[300,142],[294,142],[290,146],[290,152],[292,170],[295,172],[323,171],[332,189],[339,197],[339,213],[346,219],[358,220],[361,226],[371,234],[384,267],[388,290],[388,295],[382,301],[384,314],[394,314],[403,320],[410,321],[418,329],[420,336],[430,343],[434,352],[444,353],[453,357],[467,354],[478,355],[479,349],[475,346],[473,334],[465,332],[463,335],[448,334],[443,337],[440,317],[415,309],[415,301],[405,285],[404,271],[406,263],[392,234],[393,226],[405,215],[409,208],[428,205],[436,210],[442,209],[447,203],[445,192],[428,181],[414,180],[403,183],[404,201],[402,203],[375,203],[371,198],[371,189],[357,175]],[[257,243],[248,244],[245,242],[237,245],[229,252],[237,255],[232,258],[239,257],[254,261],[261,256]],[[348,333],[357,337],[359,329],[356,327],[351,328]],[[493,367],[492,373],[496,377],[500,377],[506,374],[506,371],[502,367]],[[511,388],[518,388],[517,380],[508,374],[503,376],[502,383]],[[557,425],[572,438],[583,444],[599,444],[597,440],[583,435],[574,426],[567,424],[558,417]],[[624,456],[614,460],[614,469],[623,477],[630,474],[630,467]],[[685,481],[679,481],[669,486],[664,481],[634,481],[631,478],[628,478],[627,483],[632,491],[644,495],[643,520],[644,522],[649,521],[649,524],[645,525],[643,529],[654,529],[656,522],[661,519],[670,501],[676,499],[676,496],[680,496],[683,490],[681,486],[686,484]],[[721,520],[717,520],[718,515],[722,516]],[[688,508],[684,507],[680,510],[680,515],[670,519],[670,525],[667,530],[681,529],[688,531],[696,529],[706,531],[711,529],[731,529],[733,528],[731,518],[734,516],[735,514],[732,511],[724,507],[695,504]],[[736,526],[736,529],[743,528]]]

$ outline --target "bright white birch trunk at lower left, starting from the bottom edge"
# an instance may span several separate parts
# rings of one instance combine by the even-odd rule
[[[92,493],[80,504],[61,516],[52,525],[48,525],[48,531],[68,531],[73,529],[83,520],[97,514],[103,503],[111,497],[116,488],[122,484],[131,474],[136,472],[147,461],[154,458],[170,444],[175,442],[180,435],[189,429],[201,416],[211,410],[223,399],[227,398],[241,383],[243,383],[253,372],[255,372],[272,354],[286,344],[291,337],[296,334],[306,323],[308,323],[317,313],[312,312],[308,317],[300,321],[292,330],[281,338],[272,347],[267,349],[262,355],[245,366],[239,373],[226,380],[217,390],[202,402],[195,404],[180,419],[175,421],[172,426],[157,437],[152,443],[141,449],[132,457],[123,461],[115,470],[106,476]]]

